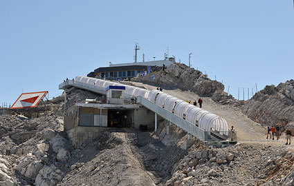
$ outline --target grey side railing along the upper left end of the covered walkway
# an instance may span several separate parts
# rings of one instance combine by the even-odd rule
[[[82,83],[80,81],[75,81],[75,80],[66,80],[64,81],[63,83],[61,83],[59,85],[59,89],[64,89],[66,87],[71,87],[71,86],[74,86],[74,87],[80,87],[84,90],[89,90],[91,92],[96,92],[98,94],[104,94],[106,95],[106,90],[102,87],[98,87],[96,85],[90,85],[88,83]]]

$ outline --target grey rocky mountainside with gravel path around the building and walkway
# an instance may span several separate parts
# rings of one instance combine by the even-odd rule
[[[157,132],[109,129],[75,148],[63,132],[61,96],[33,110],[0,115],[0,186],[294,185],[294,147],[284,145],[284,134],[279,141],[267,140],[261,125],[293,126],[293,80],[267,86],[244,102],[184,64],[155,75],[155,81],[145,76],[132,84],[149,90],[161,86],[183,100],[203,97],[203,109],[234,125],[239,143],[219,149],[192,137],[185,149],[187,134],[175,125],[167,134],[163,120]],[[103,99],[75,88],[66,92],[68,105]]]

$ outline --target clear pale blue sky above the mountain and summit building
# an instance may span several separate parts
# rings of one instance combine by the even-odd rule
[[[238,99],[293,79],[292,0],[0,1],[0,106],[111,63],[164,59],[208,74]],[[230,86],[230,89],[228,88]]]

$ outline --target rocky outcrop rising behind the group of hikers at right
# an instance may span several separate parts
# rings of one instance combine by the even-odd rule
[[[246,101],[244,113],[254,121],[265,125],[290,127],[294,131],[294,80],[267,85]],[[287,125],[287,126],[286,126]]]

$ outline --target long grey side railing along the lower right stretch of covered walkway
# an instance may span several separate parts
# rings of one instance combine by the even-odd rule
[[[176,116],[176,114],[173,114],[172,112],[169,112],[168,110],[165,110],[163,107],[160,107],[159,105],[156,105],[155,103],[143,98],[142,96],[138,96],[138,103],[141,103],[145,107],[147,107],[149,110],[155,112],[156,114],[159,114],[163,118],[167,119],[168,121],[171,121],[178,127],[181,127],[182,130],[185,130],[188,134],[192,134],[196,138],[199,138],[201,141],[207,141],[208,134],[205,133],[204,130],[197,127],[196,125],[193,125],[192,123],[185,121],[183,118]]]

